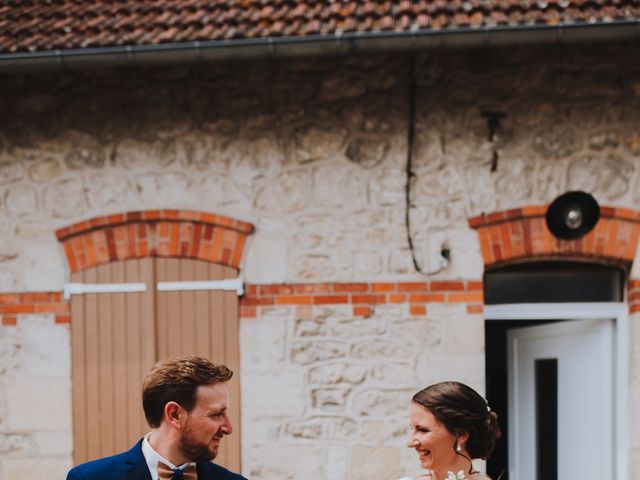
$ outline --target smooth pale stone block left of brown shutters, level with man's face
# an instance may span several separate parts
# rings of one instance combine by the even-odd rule
[[[6,427],[10,431],[66,431],[70,428],[70,379],[21,376],[5,385],[9,412]],[[43,402],[43,398],[47,401]]]

